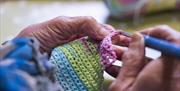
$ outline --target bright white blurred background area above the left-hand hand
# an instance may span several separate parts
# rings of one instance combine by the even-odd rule
[[[103,23],[108,10],[100,0],[3,0],[0,2],[0,42],[13,38],[28,25],[57,16],[93,16]]]

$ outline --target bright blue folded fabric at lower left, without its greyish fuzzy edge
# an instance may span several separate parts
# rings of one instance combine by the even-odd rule
[[[31,41],[30,38],[18,38],[10,41],[14,49],[0,60],[1,91],[32,91],[25,78],[27,73],[37,74],[35,65],[29,63],[33,57],[32,46],[29,45]]]

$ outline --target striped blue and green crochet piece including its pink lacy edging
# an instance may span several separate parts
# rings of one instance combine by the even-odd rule
[[[52,51],[50,61],[55,65],[55,79],[64,91],[102,90],[103,66],[105,63],[111,64],[105,62],[109,60],[104,59],[104,56],[111,55],[111,58],[116,58],[115,54],[112,55],[113,50],[106,47],[107,43],[111,43],[111,40],[105,42],[110,39],[108,37],[103,40],[104,42],[102,41],[102,44],[81,38],[58,46]],[[101,60],[103,61],[100,62]]]

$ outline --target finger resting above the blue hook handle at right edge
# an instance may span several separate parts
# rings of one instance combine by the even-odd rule
[[[180,33],[167,25],[160,25],[154,28],[144,29],[141,32],[146,35],[154,36],[160,39],[165,39],[173,43],[180,43]]]

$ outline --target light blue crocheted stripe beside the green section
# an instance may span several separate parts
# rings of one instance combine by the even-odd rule
[[[54,56],[51,56],[50,61],[56,65],[56,79],[64,90],[87,91],[86,86],[79,79],[62,50],[60,48],[55,48],[52,54],[54,54]]]

